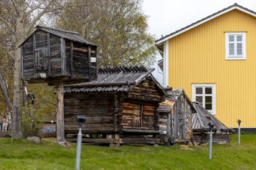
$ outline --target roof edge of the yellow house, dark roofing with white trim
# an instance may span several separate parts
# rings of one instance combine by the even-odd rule
[[[205,22],[210,21],[211,19],[214,19],[214,18],[216,18],[224,13],[227,13],[229,11],[232,11],[234,9],[238,9],[240,11],[243,11],[245,13],[248,13],[249,15],[253,15],[254,17],[256,17],[255,11],[251,11],[250,9],[247,9],[241,5],[238,5],[237,3],[234,3],[234,5],[231,5],[230,7],[227,7],[227,8],[222,9],[221,11],[218,11],[212,15],[204,17],[203,19],[201,19],[189,26],[186,26],[185,28],[181,28],[180,30],[177,30],[176,32],[172,32],[171,34],[168,34],[167,36],[164,36],[163,38],[156,40],[156,45],[160,46],[162,44],[162,42],[165,42],[166,40],[169,40],[170,38],[173,38],[174,36],[178,36],[179,34],[182,34],[183,32],[187,32],[188,30],[191,30],[192,28],[195,28]]]

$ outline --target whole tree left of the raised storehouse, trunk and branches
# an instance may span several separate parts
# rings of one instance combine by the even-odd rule
[[[14,63],[13,71],[13,104],[8,104],[12,112],[11,138],[22,137],[22,79],[20,74],[20,44],[30,34],[38,20],[47,13],[54,5],[54,0],[1,0],[0,20],[1,28],[7,28],[9,38],[5,41],[3,48],[7,47],[7,53],[12,56]],[[13,54],[9,51],[13,51]],[[6,81],[0,74],[0,85],[3,93],[6,92]],[[9,95],[4,95],[5,101],[11,101]],[[10,102],[9,102],[10,103]]]

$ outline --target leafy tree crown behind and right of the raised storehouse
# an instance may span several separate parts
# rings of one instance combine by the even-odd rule
[[[100,46],[99,66],[148,65],[156,54],[140,0],[70,0],[57,13],[58,27],[79,32]]]

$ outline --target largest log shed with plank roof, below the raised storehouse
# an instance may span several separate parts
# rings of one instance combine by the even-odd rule
[[[167,93],[145,67],[98,69],[98,79],[66,85],[65,138],[76,141],[76,115],[85,115],[84,142],[157,144],[158,103]],[[86,134],[90,137],[86,138]],[[88,136],[88,135],[87,135]]]

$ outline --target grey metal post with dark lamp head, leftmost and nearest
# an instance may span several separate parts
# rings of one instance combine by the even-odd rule
[[[86,116],[76,116],[75,121],[79,124],[79,131],[77,134],[77,148],[76,148],[76,157],[75,157],[75,170],[80,169],[81,161],[81,145],[82,145],[82,124],[86,122]]]

